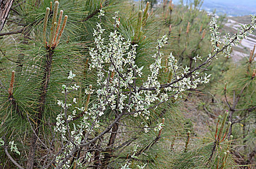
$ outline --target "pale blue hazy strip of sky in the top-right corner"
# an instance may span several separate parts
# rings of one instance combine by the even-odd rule
[[[173,0],[174,3],[179,1]],[[204,0],[202,8],[207,11],[216,9],[217,14],[226,13],[233,16],[256,14],[256,0]]]

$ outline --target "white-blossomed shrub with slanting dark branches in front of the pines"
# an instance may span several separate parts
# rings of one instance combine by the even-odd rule
[[[103,15],[104,12],[101,11],[99,17]],[[174,75],[170,83],[167,84],[161,84],[158,80],[159,71],[163,68],[161,63],[164,54],[161,52],[161,48],[167,42],[167,36],[164,35],[157,41],[156,53],[152,56],[154,62],[150,65],[151,74],[148,75],[146,82],[139,84],[137,79],[143,75],[143,67],[139,68],[136,65],[137,44],[132,45],[131,42],[126,41],[116,29],[117,25],[120,24],[118,12],[115,13],[113,19],[115,22],[114,31],[108,36],[109,42],[105,44],[105,39],[102,38],[105,29],[101,27],[101,23],[97,23],[97,29],[94,29],[93,33],[95,47],[90,48],[90,70],[95,69],[97,75],[97,100],[92,104],[92,107],[88,109],[76,107],[70,115],[67,115],[66,111],[71,104],[75,103],[75,98],[73,99],[73,103],[69,104],[66,103],[66,101],[65,103],[58,101],[58,104],[64,109],[64,113],[58,115],[55,130],[62,134],[64,141],[69,142],[72,140],[74,142],[73,144],[69,143],[64,153],[57,157],[56,161],[59,162],[57,168],[61,166],[70,167],[68,165],[70,163],[70,156],[73,155],[77,149],[89,145],[92,141],[105,135],[116,123],[122,118],[125,118],[125,116],[133,115],[136,117],[142,115],[145,119],[149,119],[151,109],[156,109],[158,105],[166,102],[170,98],[177,99],[181,97],[183,91],[196,88],[198,84],[208,83],[211,75],[207,75],[206,73],[202,75],[202,71],[199,71],[199,69],[207,63],[211,64],[213,58],[221,51],[223,51],[226,56],[229,56],[231,43],[236,44],[237,39],[246,37],[248,31],[251,31],[251,28],[255,25],[254,22],[254,25],[246,26],[241,34],[234,35],[231,39],[227,35],[224,46],[220,49],[220,44],[222,43],[219,37],[220,33],[217,31],[218,26],[213,18],[211,21],[211,42],[216,53],[213,56],[209,55],[207,60],[194,70],[190,70],[187,66],[185,68],[178,67],[177,60],[171,53],[168,56],[167,69]],[[196,56],[193,59],[196,62],[197,59],[200,59],[200,56]],[[71,71],[68,78],[73,78],[74,76]],[[63,85],[63,93],[67,96],[68,89],[72,89],[73,91],[78,87],[79,86],[67,87]],[[86,90],[85,92],[90,95],[92,91],[93,90],[90,88],[89,91]],[[103,132],[94,137],[92,141],[88,141],[88,137],[93,133],[93,129],[100,126],[99,119],[108,107],[111,111],[115,112],[115,120],[106,127]],[[82,120],[80,120],[77,125],[73,124],[73,130],[69,131],[71,128],[69,125],[71,124],[68,122],[72,121],[75,117],[76,111],[83,112]],[[64,117],[66,117],[66,119]],[[159,124],[159,126],[154,127],[154,129],[160,130],[162,127],[163,124]],[[144,126],[144,130],[146,133],[150,130],[148,125]],[[89,152],[86,156],[88,156],[88,160],[90,161]],[[127,164],[125,166],[128,167]],[[123,166],[122,168],[125,167]]]

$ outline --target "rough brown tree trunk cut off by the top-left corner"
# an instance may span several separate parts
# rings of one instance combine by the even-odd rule
[[[10,12],[14,0],[0,0],[0,32]]]

